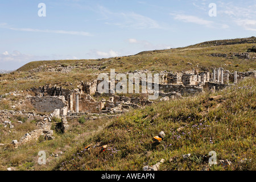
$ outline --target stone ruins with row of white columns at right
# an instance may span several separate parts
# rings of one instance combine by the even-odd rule
[[[205,92],[207,90],[224,89],[230,84],[237,84],[245,77],[256,77],[256,72],[230,73],[223,68],[214,68],[209,71],[197,73],[195,70],[181,73],[165,73],[162,75],[159,91],[161,96],[166,93],[179,93],[181,96]],[[170,95],[170,94],[169,94]]]

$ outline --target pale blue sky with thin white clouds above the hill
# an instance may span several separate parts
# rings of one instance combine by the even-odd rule
[[[0,0],[0,69],[255,36],[255,10],[256,0]]]

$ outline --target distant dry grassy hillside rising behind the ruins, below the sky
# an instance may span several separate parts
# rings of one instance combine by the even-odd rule
[[[217,43],[217,44],[216,44]],[[216,46],[217,45],[217,46]],[[184,48],[145,51],[133,56],[112,57],[98,60],[53,60],[34,61],[24,65],[11,74],[0,75],[0,95],[14,90],[26,90],[33,86],[46,84],[76,88],[79,81],[97,78],[101,72],[129,72],[148,69],[149,71],[186,71],[192,68],[198,71],[222,67],[233,71],[250,71],[256,68],[256,53],[251,52],[251,59],[240,59],[234,53],[244,53],[256,46],[256,38],[217,40],[196,44]],[[212,54],[227,54],[226,57],[214,57]],[[34,69],[39,68],[39,71]],[[49,72],[73,67],[71,72]]]

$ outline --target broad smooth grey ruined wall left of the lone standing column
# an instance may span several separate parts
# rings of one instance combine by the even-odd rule
[[[64,96],[31,97],[30,101],[37,111],[43,113],[53,113],[55,109],[63,109],[67,106]]]

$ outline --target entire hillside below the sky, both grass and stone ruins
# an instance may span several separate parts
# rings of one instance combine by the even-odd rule
[[[213,40],[0,74],[0,170],[255,170],[255,46],[255,37]],[[154,101],[96,92],[94,79],[110,69],[166,82]]]

